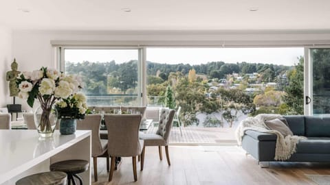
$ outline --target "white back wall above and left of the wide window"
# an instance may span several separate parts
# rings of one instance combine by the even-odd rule
[[[173,45],[176,43],[228,45],[305,45],[330,43],[330,32],[55,32],[19,31],[12,33],[12,56],[20,71],[32,71],[41,66],[56,67],[51,40],[87,40],[102,43],[124,42],[140,45]],[[74,42],[72,42],[74,43]],[[88,43],[88,42],[87,42]],[[0,44],[2,45],[2,43]],[[7,45],[7,44],[5,44]],[[1,46],[0,46],[1,47]],[[8,51],[9,52],[9,51]],[[9,64],[10,60],[6,58]],[[9,66],[9,65],[8,65]],[[3,92],[1,92],[3,93]],[[20,103],[20,101],[18,101]],[[21,102],[23,110],[26,103]]]

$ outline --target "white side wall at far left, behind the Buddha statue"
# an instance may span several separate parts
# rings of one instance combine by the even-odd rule
[[[5,74],[10,71],[12,60],[12,30],[0,26],[0,108],[12,103],[9,97],[9,84],[5,80]]]

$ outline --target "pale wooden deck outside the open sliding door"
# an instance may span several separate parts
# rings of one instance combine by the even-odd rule
[[[170,133],[170,144],[236,144],[234,128],[229,127],[173,127]],[[157,125],[151,125],[146,133],[155,133]]]

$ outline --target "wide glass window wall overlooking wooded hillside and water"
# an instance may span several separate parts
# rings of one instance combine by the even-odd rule
[[[247,116],[304,114],[303,47],[61,51],[62,70],[81,77],[89,106],[181,107],[182,132],[173,123],[170,143],[234,140],[235,127]],[[326,83],[319,86],[314,94],[326,95]]]

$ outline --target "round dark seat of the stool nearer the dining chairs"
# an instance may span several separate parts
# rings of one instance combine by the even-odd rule
[[[63,171],[65,173],[82,173],[87,171],[87,160],[63,160],[50,164],[50,171]]]

